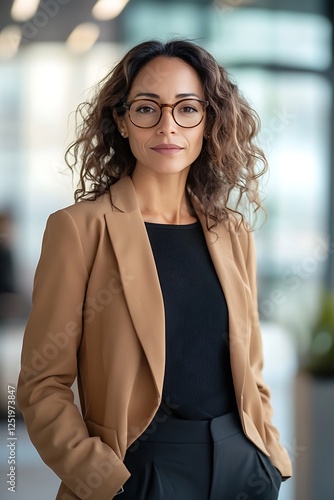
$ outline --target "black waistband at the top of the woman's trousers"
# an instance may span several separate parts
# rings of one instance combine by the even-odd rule
[[[159,443],[208,443],[242,432],[237,411],[212,420],[184,420],[158,411],[139,441]]]

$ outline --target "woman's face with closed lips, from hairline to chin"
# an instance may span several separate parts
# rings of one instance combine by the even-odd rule
[[[134,79],[128,102],[134,99],[153,99],[159,104],[172,105],[185,98],[205,99],[196,71],[182,59],[156,57]],[[131,111],[135,121],[139,117],[139,123],[142,124],[143,120],[151,120],[153,115],[159,117],[160,110],[154,103],[152,108],[150,103],[146,103],[149,104],[148,107],[143,106],[143,103],[137,104],[133,104],[136,107]],[[193,124],[196,121],[195,115],[201,116],[202,107],[200,106],[199,111],[198,103],[197,109],[188,106],[191,101],[184,101],[184,104],[178,112],[175,111],[175,115],[180,116],[183,124]],[[171,108],[164,107],[157,125],[139,128],[132,123],[127,112],[119,120],[119,128],[128,137],[131,151],[137,160],[135,169],[155,175],[183,171],[187,173],[202,149],[205,114],[199,125],[183,128],[174,121]]]

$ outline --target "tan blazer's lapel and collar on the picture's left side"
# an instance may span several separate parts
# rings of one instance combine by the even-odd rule
[[[118,211],[105,215],[137,335],[161,396],[165,370],[165,314],[159,278],[136,192],[129,177],[111,188]]]

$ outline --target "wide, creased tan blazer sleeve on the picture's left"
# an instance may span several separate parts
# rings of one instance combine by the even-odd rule
[[[130,474],[108,445],[89,437],[71,390],[88,279],[74,220],[66,210],[56,212],[48,220],[35,274],[17,396],[42,460],[77,498],[110,500]]]

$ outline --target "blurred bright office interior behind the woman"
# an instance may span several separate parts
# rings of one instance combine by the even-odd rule
[[[268,213],[255,233],[265,376],[294,478],[280,500],[334,491],[334,148],[332,0],[1,0],[0,497],[9,472],[8,385],[16,386],[49,214],[73,203],[64,162],[73,111],[133,45],[196,40],[262,121]],[[16,414],[17,500],[53,500],[59,481]],[[204,500],[204,499],[203,499]]]

